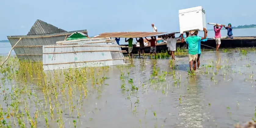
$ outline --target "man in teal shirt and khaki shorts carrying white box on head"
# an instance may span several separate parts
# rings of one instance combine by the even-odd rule
[[[181,43],[186,42],[189,46],[188,53],[189,53],[189,68],[190,71],[193,72],[197,69],[197,57],[198,57],[198,41],[204,40],[207,37],[206,28],[204,28],[204,37],[196,36],[198,31],[191,30],[191,36],[187,37],[185,40],[183,38],[183,33],[181,35]],[[194,66],[193,66],[194,64]],[[192,67],[193,66],[193,67]]]

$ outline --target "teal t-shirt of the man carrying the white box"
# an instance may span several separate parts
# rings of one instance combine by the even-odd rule
[[[200,36],[189,36],[185,39],[186,43],[189,45],[189,54],[195,55],[198,53],[198,41],[202,38]]]

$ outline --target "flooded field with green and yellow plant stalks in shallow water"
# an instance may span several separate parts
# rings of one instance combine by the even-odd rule
[[[256,119],[255,55],[203,51],[195,75],[188,57],[51,72],[10,57],[0,70],[0,127],[233,127]]]

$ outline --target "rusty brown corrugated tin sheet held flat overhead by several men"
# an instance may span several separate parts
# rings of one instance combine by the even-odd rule
[[[120,38],[138,38],[138,37],[149,37],[152,35],[162,34],[166,32],[112,32],[102,33],[93,38],[106,38],[106,37],[120,37]]]

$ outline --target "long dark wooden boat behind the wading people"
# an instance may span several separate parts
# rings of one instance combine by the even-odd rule
[[[128,45],[123,45],[128,46]],[[186,43],[181,43],[181,41],[177,41],[176,47],[188,47]],[[215,39],[208,38],[206,42],[201,42],[201,49],[214,49],[216,47]],[[220,49],[229,49],[229,48],[251,48],[256,47],[256,36],[239,36],[234,37],[234,39],[221,39]],[[157,44],[156,45],[157,52],[165,52],[167,50],[166,43]],[[128,54],[128,47],[122,48],[122,50],[126,50]],[[150,53],[150,46],[145,46],[145,53]],[[138,54],[139,47],[133,45],[132,53]]]

